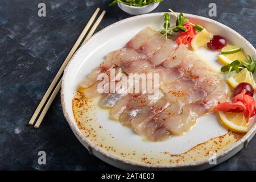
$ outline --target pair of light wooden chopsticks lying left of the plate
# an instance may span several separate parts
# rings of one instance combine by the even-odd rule
[[[43,109],[43,111],[39,115],[39,118],[36,121],[34,127],[36,129],[38,129],[38,127],[42,123],[44,116],[46,115],[49,107],[52,104],[52,101],[54,100],[54,98],[56,97],[56,94],[59,92],[59,90],[61,88],[61,81],[62,81],[61,75],[64,72],[64,69],[65,69],[66,65],[68,64],[69,60],[71,60],[71,58],[74,55],[74,53],[76,52],[77,48],[79,48],[82,40],[84,39],[84,37],[85,37],[86,33],[88,32],[89,28],[92,26],[92,24],[93,24],[94,20],[96,19],[96,16],[99,13],[99,11],[100,11],[100,9],[97,8],[96,11],[93,13],[92,17],[89,19],[89,22],[84,27],[84,30],[82,30],[79,38],[76,40],[75,45],[72,47],[72,49],[69,52],[68,56],[64,60],[64,63],[61,65],[61,67],[60,67],[59,71],[57,72],[55,78],[53,79],[51,85],[47,89],[47,91],[44,94],[42,100],[40,101],[38,107],[36,108],[35,113],[32,115],[30,121],[28,122],[28,125],[33,125],[34,124],[36,118],[38,118],[38,115],[40,114],[40,111]],[[100,22],[101,22],[103,16],[105,15],[105,13],[106,13],[106,11],[102,11],[101,15],[98,17],[98,19],[96,20],[96,22],[94,23],[94,25],[90,29],[89,33],[85,37],[84,42],[86,40],[88,40],[93,35],[94,31],[96,30],[96,28],[100,24]],[[58,80],[59,80],[59,82],[58,82]],[[56,86],[56,84],[57,84],[57,86]],[[52,92],[52,90],[53,90],[53,92]],[[49,97],[49,99],[48,99],[48,97]],[[48,101],[47,101],[47,99],[48,99]],[[46,103],[46,101],[47,101],[47,103]]]

